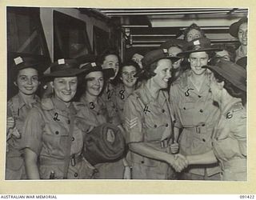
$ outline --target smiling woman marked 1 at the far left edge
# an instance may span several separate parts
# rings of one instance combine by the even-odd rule
[[[7,102],[6,179],[9,180],[26,179],[22,128],[32,105],[40,102],[35,94],[39,86],[38,66],[33,58],[14,58],[17,73],[14,85],[18,87],[18,94]]]

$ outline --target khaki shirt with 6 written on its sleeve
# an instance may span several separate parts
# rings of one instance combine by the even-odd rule
[[[236,174],[246,178],[246,110],[241,99],[234,98],[222,110],[218,126],[214,129],[214,154],[225,172],[232,172],[228,180],[236,180]],[[246,179],[245,179],[246,180]]]

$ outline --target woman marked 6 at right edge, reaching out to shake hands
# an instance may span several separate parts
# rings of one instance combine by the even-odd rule
[[[246,70],[221,59],[208,68],[214,72],[210,90],[222,113],[214,128],[214,148],[186,158],[193,165],[218,161],[223,181],[246,181]]]

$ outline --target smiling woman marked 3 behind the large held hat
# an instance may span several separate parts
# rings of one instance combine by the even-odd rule
[[[84,118],[86,124],[93,128],[101,126],[106,122],[111,122],[113,125],[120,127],[121,124],[111,121],[106,102],[100,96],[104,82],[114,75],[114,70],[102,69],[102,67],[97,65],[95,62],[82,66],[82,69],[85,70],[82,84],[85,87],[85,92],[82,94],[80,102],[86,106],[86,110],[83,110],[81,113],[82,115],[80,114],[80,117]],[[128,164],[125,159],[118,160],[117,162],[99,163],[95,165],[98,173],[94,174],[94,178],[127,178],[126,175],[127,173],[129,174],[129,171],[126,170],[130,170],[125,169],[125,166],[127,165]]]

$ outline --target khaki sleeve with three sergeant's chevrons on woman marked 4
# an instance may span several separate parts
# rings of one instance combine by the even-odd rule
[[[124,104],[126,142],[143,142],[144,134],[142,132],[142,108],[138,99],[131,95]]]

